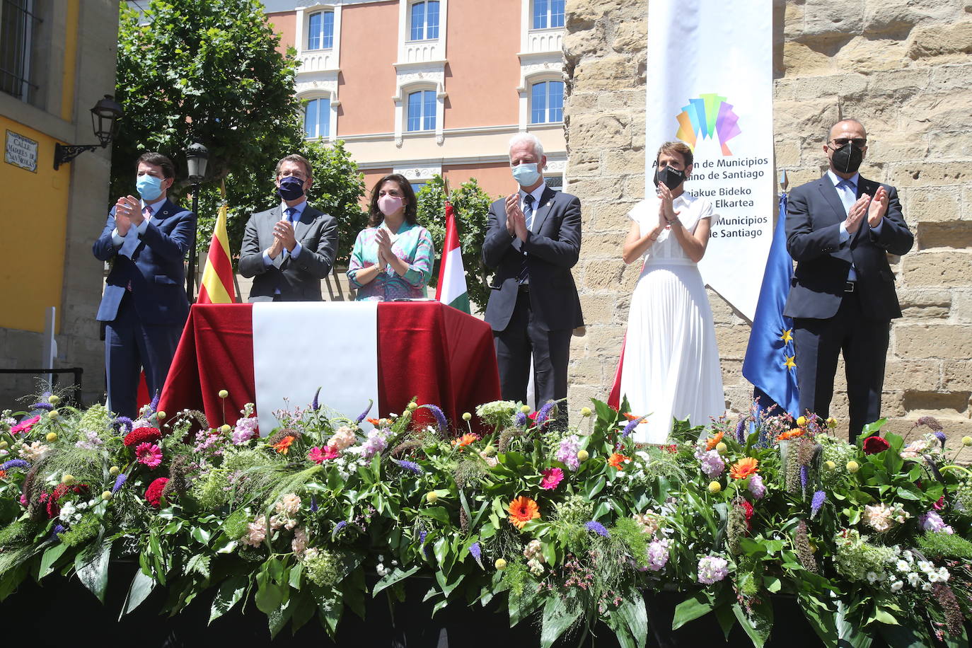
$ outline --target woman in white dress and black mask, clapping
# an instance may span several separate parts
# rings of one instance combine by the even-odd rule
[[[707,425],[725,411],[712,309],[696,263],[706,254],[712,204],[685,191],[692,151],[682,142],[658,150],[657,195],[628,213],[625,263],[644,259],[631,298],[621,364],[621,394],[649,415],[635,439],[664,443],[672,421]]]

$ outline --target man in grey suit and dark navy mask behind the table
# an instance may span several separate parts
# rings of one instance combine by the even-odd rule
[[[277,162],[282,202],[251,216],[243,234],[239,269],[254,277],[250,301],[321,301],[321,280],[337,252],[337,221],[307,204],[313,184],[302,155]]]

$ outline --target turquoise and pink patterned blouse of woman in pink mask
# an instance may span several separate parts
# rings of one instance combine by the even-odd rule
[[[388,227],[382,222],[378,227]],[[355,249],[348,264],[348,281],[358,291],[356,300],[390,301],[399,298],[426,296],[426,286],[432,276],[434,249],[432,234],[422,225],[402,222],[397,234],[391,234],[392,252],[408,264],[408,271],[401,277],[389,264],[385,272],[367,284],[359,284],[355,277],[360,270],[378,262],[378,244],[375,241],[378,227],[363,229],[355,240]]]

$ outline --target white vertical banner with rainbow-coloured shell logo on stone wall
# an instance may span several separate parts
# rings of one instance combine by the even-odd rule
[[[719,216],[699,270],[750,321],[773,238],[772,20],[770,0],[648,0],[645,195],[658,147],[691,147],[685,190]]]

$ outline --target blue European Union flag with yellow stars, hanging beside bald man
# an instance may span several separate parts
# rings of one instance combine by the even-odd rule
[[[756,315],[749,331],[743,377],[755,388],[753,398],[764,406],[769,396],[793,416],[799,416],[796,386],[796,352],[793,349],[793,321],[783,317],[783,305],[793,278],[793,259],[786,252],[786,194],[780,196],[780,218],[770,255],[766,259],[763,286],[759,290]]]

